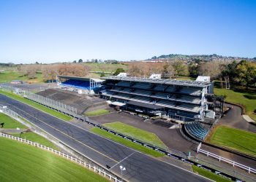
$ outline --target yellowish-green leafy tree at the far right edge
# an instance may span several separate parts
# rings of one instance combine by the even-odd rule
[[[249,85],[255,84],[256,80],[256,64],[248,60],[241,60],[236,66],[238,76],[236,79],[241,84],[246,85],[246,90]]]

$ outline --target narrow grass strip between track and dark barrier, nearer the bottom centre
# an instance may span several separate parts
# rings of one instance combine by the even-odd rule
[[[110,132],[106,132],[105,130],[101,130],[98,127],[91,128],[91,132],[94,132],[94,133],[96,133],[98,135],[102,135],[105,138],[109,138],[112,141],[116,141],[118,143],[123,144],[124,146],[128,146],[128,147],[130,147],[132,149],[141,151],[141,152],[143,152],[145,154],[149,154],[149,155],[151,155],[153,157],[163,157],[163,156],[165,156],[164,154],[161,154],[161,153],[159,153],[157,151],[154,151],[152,149],[148,149],[145,146],[140,146],[138,143],[133,143],[132,141],[128,141],[128,140],[126,140],[124,138],[118,137],[117,135],[114,135],[114,134],[112,134]]]

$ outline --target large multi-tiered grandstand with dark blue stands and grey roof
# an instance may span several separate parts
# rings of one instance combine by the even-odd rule
[[[213,82],[208,76],[196,81],[148,79],[128,76],[105,77],[102,98],[121,109],[150,116],[166,115],[184,122],[214,118],[206,95],[213,95]]]

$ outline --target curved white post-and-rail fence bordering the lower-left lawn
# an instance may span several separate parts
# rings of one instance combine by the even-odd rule
[[[118,178],[116,178],[116,176],[110,175],[105,170],[100,170],[99,168],[95,167],[94,165],[91,165],[89,163],[83,162],[80,159],[77,159],[75,157],[69,156],[68,154],[64,154],[61,151],[57,151],[57,150],[52,149],[52,148],[50,148],[48,146],[43,146],[43,145],[41,145],[41,144],[39,144],[37,142],[28,141],[26,139],[18,138],[18,137],[12,136],[12,135],[7,135],[7,134],[2,133],[2,132],[0,132],[0,137],[10,138],[10,139],[12,139],[14,141],[19,141],[21,143],[26,143],[26,144],[29,144],[31,146],[35,146],[37,148],[44,149],[46,151],[50,151],[53,154],[56,154],[56,155],[58,155],[60,157],[64,157],[66,159],[69,159],[72,162],[75,162],[75,163],[77,163],[77,164],[79,164],[79,165],[81,165],[81,166],[83,166],[85,168],[89,168],[89,170],[94,170],[94,173],[98,173],[99,175],[103,175],[105,178],[108,178],[110,181],[121,182],[120,180],[118,180]]]

